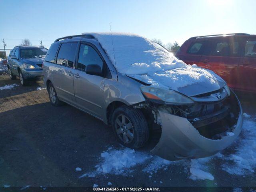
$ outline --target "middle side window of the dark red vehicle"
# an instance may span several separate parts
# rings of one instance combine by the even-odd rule
[[[239,56],[239,43],[237,41],[229,40],[214,40],[210,41],[204,55],[212,56]]]

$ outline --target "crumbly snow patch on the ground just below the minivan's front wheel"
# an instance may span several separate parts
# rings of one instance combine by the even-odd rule
[[[110,150],[101,154],[103,162],[96,166],[96,171],[80,176],[95,177],[98,174],[128,174],[129,168],[142,164],[150,158],[148,154],[135,152],[134,149],[124,148],[122,150]]]

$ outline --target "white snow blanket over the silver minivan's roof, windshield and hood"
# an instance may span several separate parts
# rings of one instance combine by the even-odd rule
[[[216,90],[220,88],[219,82],[224,81],[212,71],[198,68],[195,64],[187,65],[162,46],[142,36],[127,33],[112,33],[112,37],[110,33],[90,34],[98,39],[118,72],[152,86],[179,91],[179,88],[188,85],[207,83]]]

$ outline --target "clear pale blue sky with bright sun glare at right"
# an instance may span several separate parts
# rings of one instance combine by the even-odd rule
[[[182,44],[192,36],[256,33],[255,0],[0,0],[0,48],[82,32],[130,32]]]

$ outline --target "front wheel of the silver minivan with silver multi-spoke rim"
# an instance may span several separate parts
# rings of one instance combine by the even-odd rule
[[[140,110],[120,106],[112,114],[111,122],[114,134],[122,145],[136,149],[148,142],[148,124]]]

